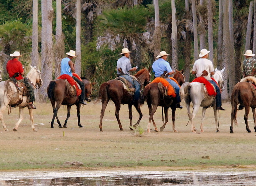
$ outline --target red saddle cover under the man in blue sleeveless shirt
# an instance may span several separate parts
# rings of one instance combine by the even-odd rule
[[[73,76],[75,76],[79,80],[81,80],[81,78],[76,73],[72,73],[72,74],[73,74]],[[81,95],[81,92],[82,92],[81,87],[71,76],[69,76],[67,74],[63,74],[60,77],[58,77],[57,79],[65,80],[67,94],[69,95],[70,98],[75,97],[75,96],[78,97]]]

